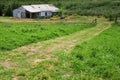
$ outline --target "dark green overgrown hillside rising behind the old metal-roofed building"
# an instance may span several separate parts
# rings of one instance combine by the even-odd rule
[[[46,3],[56,5],[67,15],[120,16],[120,0],[0,0],[0,16],[12,16],[12,10],[21,5]]]

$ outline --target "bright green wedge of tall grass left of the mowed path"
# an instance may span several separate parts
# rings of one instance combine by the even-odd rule
[[[86,23],[5,23],[0,22],[0,51],[11,50],[30,43],[48,40],[90,28]]]

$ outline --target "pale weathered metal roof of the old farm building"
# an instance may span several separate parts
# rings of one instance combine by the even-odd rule
[[[41,11],[51,11],[57,12],[58,8],[53,6],[52,4],[40,4],[40,5],[23,5],[25,10],[29,12],[41,12]]]

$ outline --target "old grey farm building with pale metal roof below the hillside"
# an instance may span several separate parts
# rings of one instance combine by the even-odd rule
[[[13,17],[17,18],[43,18],[51,17],[58,12],[52,4],[23,5],[13,10]]]

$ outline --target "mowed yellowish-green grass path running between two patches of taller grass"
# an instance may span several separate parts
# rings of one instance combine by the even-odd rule
[[[56,80],[72,75],[67,54],[77,43],[90,40],[110,28],[108,22],[73,34],[23,46],[0,57],[0,78],[13,80]],[[68,66],[68,67],[67,67]]]

